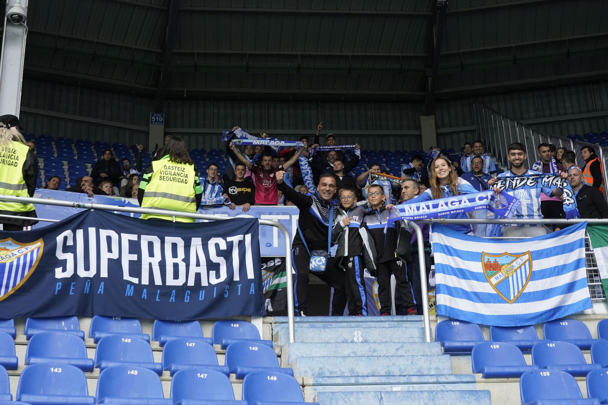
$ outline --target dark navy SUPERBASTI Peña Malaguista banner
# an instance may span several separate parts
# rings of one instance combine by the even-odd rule
[[[145,221],[85,210],[0,231],[6,318],[124,316],[195,320],[264,314],[258,221]]]

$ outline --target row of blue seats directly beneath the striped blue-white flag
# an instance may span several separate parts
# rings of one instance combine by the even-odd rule
[[[587,325],[575,319],[556,319],[543,325],[545,339],[568,342],[581,350],[589,350],[598,341],[593,339]],[[608,319],[598,322],[599,339],[608,339]],[[444,353],[451,355],[468,355],[473,347],[485,342],[479,325],[464,320],[442,320],[435,328],[435,338],[441,342]],[[533,326],[525,327],[490,327],[490,341],[510,343],[530,352],[532,347],[543,342]]]

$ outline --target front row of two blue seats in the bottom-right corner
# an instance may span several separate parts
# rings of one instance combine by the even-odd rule
[[[608,369],[593,370],[587,375],[587,398],[582,397],[576,379],[560,370],[533,370],[519,379],[523,405],[535,404],[607,404]]]

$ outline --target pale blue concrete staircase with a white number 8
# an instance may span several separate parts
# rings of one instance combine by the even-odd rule
[[[438,342],[424,342],[421,316],[274,317],[282,367],[303,377],[306,401],[321,405],[489,404],[475,375],[452,374]]]

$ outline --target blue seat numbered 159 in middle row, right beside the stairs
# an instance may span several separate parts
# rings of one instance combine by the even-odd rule
[[[537,365],[527,365],[517,346],[503,342],[483,342],[471,352],[473,373],[482,378],[519,378],[523,373],[537,370]]]

